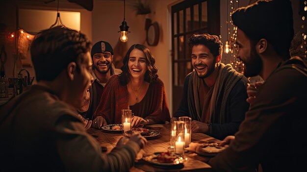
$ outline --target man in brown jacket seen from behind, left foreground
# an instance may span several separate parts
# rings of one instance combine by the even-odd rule
[[[90,42],[63,26],[43,30],[31,45],[37,84],[0,111],[2,171],[128,171],[146,139],[122,138],[109,154],[77,116],[93,77]],[[126,139],[126,140],[125,140]]]

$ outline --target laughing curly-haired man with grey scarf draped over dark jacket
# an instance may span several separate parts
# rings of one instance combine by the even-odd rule
[[[217,139],[234,134],[249,108],[246,86],[249,82],[230,64],[221,63],[223,45],[215,35],[192,35],[194,70],[184,80],[183,97],[176,117],[192,118],[192,131]]]

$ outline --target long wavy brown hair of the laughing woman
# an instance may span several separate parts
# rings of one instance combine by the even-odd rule
[[[129,70],[129,67],[128,67],[128,62],[129,62],[130,53],[133,49],[139,49],[142,52],[144,52],[144,54],[145,54],[147,71],[145,73],[144,80],[146,82],[152,82],[152,81],[156,80],[158,78],[158,74],[157,74],[158,69],[155,66],[155,60],[154,60],[154,57],[153,57],[151,51],[147,47],[145,47],[144,45],[134,44],[129,48],[129,50],[127,51],[127,53],[126,53],[126,55],[123,59],[124,66],[121,68],[121,70],[123,72],[122,72],[122,74],[119,75],[121,85],[127,85],[129,80],[130,80],[131,74],[129,72],[130,70]]]

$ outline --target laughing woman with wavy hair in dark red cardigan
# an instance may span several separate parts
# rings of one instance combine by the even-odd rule
[[[135,114],[131,122],[134,127],[169,121],[164,84],[158,78],[151,51],[143,45],[132,45],[123,63],[123,73],[111,76],[106,83],[95,118],[103,118],[108,124],[122,123],[122,109],[130,109]]]

